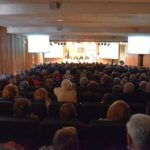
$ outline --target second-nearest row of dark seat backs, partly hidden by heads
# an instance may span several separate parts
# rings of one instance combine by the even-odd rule
[[[45,104],[41,102],[33,102],[31,112],[38,115],[39,118],[45,117],[59,118],[59,108],[61,104],[52,104],[47,110]],[[98,118],[105,118],[109,105],[100,103],[83,103],[75,105],[78,119],[88,123],[91,120]],[[131,114],[145,113],[146,106],[141,104],[130,104]],[[0,100],[0,116],[12,115],[13,114],[13,103],[10,101]]]

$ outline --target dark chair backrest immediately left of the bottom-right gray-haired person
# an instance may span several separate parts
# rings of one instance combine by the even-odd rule
[[[116,121],[92,121],[86,137],[88,147],[94,150],[123,149],[126,147],[126,125]]]

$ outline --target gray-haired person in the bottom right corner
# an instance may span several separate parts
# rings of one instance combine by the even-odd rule
[[[134,114],[127,123],[129,150],[150,150],[150,116]]]

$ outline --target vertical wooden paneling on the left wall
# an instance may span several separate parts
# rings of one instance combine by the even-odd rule
[[[7,34],[5,28],[0,27],[0,75],[2,73],[16,73],[28,67],[25,37]]]

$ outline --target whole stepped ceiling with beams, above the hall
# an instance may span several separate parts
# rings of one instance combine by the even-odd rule
[[[51,40],[127,41],[150,33],[150,0],[0,0],[0,26]]]

